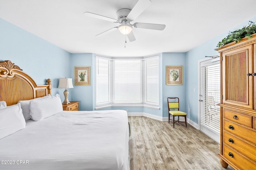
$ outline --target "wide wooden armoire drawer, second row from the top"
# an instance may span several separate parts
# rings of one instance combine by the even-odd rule
[[[250,143],[256,143],[256,130],[238,125],[237,123],[228,121],[224,119],[223,121],[224,130],[228,131],[231,134],[234,134]]]

